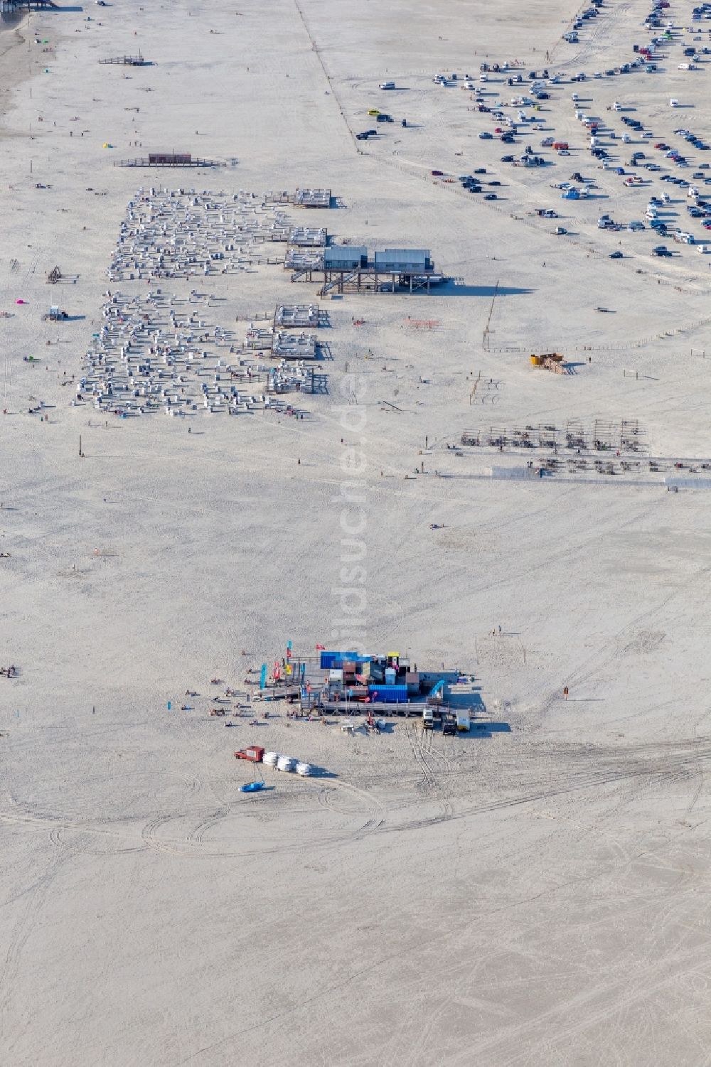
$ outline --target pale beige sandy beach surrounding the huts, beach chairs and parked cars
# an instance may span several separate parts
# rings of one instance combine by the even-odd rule
[[[122,0],[0,36],[0,648],[19,669],[0,679],[3,1067],[711,1063],[708,489],[510,480],[492,466],[527,457],[445,447],[464,428],[634,418],[649,455],[711,456],[704,257],[653,260],[649,232],[595,228],[598,204],[553,236],[527,212],[560,211],[550,181],[587,155],[544,178],[504,170],[468,94],[431,82],[485,55],[618,63],[648,38],[647,10],[607,3],[578,48],[560,42],[572,6],[511,0]],[[673,0],[669,17],[690,12]],[[137,48],[155,65],[97,62]],[[660,79],[588,95],[599,110],[621,96],[667,141],[664,101],[683,96],[709,137],[707,68],[681,83],[679,52]],[[385,77],[414,128],[359,153]],[[582,145],[570,89],[547,122]],[[114,168],[136,140],[238,162]],[[479,165],[505,184],[499,203],[429,174]],[[604,210],[642,217],[645,192],[595,174]],[[462,284],[325,301],[330,394],[302,397],[298,423],[90,427],[61,382],[100,321],[126,204],[161,179],[330,186],[339,206],[318,222],[336,239],[429,248]],[[54,265],[76,284],[50,288]],[[230,317],[316,288],[266,266],[215,285]],[[43,322],[51,299],[85,318]],[[533,369],[541,347],[578,372]],[[331,643],[342,437],[365,457],[367,643],[474,671],[485,731],[423,740],[398,720],[346,738],[207,714],[211,676],[239,684],[289,638]],[[187,688],[195,711],[176,712]],[[257,737],[330,777],[240,795],[232,752]]]

